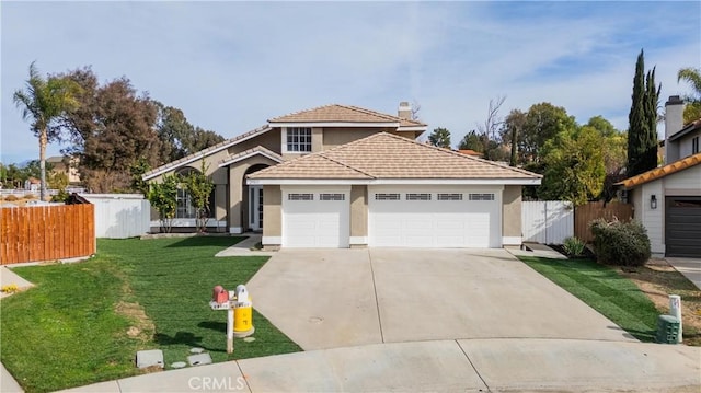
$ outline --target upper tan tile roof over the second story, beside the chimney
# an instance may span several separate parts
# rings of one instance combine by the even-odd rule
[[[268,119],[268,123],[399,123],[400,127],[426,127],[421,122],[352,105],[325,105]]]

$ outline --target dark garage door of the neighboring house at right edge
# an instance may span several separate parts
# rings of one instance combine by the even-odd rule
[[[667,256],[701,257],[701,197],[667,197]]]

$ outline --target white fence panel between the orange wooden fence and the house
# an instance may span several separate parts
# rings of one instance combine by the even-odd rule
[[[95,236],[127,239],[150,230],[151,204],[140,194],[81,194],[95,206]]]

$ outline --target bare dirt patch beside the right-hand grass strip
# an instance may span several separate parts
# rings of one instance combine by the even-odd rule
[[[617,267],[653,301],[660,314],[669,312],[669,296],[681,297],[683,344],[701,346],[701,290],[667,261],[651,258],[644,266]]]

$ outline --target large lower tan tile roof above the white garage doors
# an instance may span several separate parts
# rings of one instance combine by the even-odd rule
[[[337,148],[302,155],[249,175],[250,178],[482,178],[537,180],[518,167],[380,132]]]

